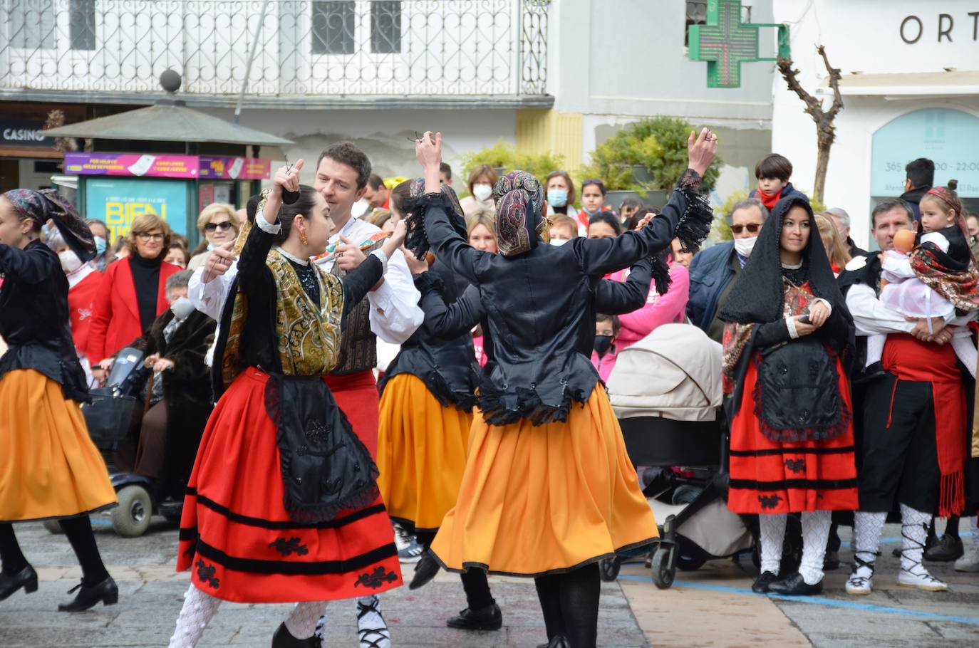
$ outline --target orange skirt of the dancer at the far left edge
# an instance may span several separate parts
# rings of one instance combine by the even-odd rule
[[[0,379],[0,521],[67,518],[116,503],[78,403],[33,369]]]

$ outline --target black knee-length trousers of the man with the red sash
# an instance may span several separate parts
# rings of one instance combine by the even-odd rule
[[[886,513],[897,500],[934,514],[942,475],[931,383],[887,373],[867,386],[863,414],[860,510]]]

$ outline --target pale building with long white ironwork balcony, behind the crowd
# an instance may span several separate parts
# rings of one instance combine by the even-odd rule
[[[771,22],[770,0],[741,4],[743,22]],[[349,139],[400,176],[428,128],[443,130],[456,168],[503,139],[576,171],[629,121],[678,116],[721,132],[722,201],[769,152],[773,65],[708,88],[685,43],[706,11],[706,0],[0,0],[0,125],[152,104],[174,69],[188,106],[232,119],[241,95],[243,125],[296,142],[256,157],[315,160]],[[7,146],[0,174],[25,163]],[[22,184],[42,179],[26,170]]]

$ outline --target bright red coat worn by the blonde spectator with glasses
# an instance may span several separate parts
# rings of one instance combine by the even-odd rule
[[[92,364],[101,362],[144,333],[129,263],[128,257],[120,258],[106,268],[105,278],[95,298],[95,317],[88,332],[89,360]],[[166,279],[181,269],[179,265],[165,261],[160,264],[158,317],[170,306],[166,301]]]

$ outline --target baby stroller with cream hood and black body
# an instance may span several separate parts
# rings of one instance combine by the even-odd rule
[[[754,534],[725,501],[721,345],[695,326],[660,326],[619,354],[608,391],[632,464],[647,467],[644,493],[661,521],[656,586],[670,587],[676,568],[752,552]],[[618,565],[602,574],[614,579]]]

